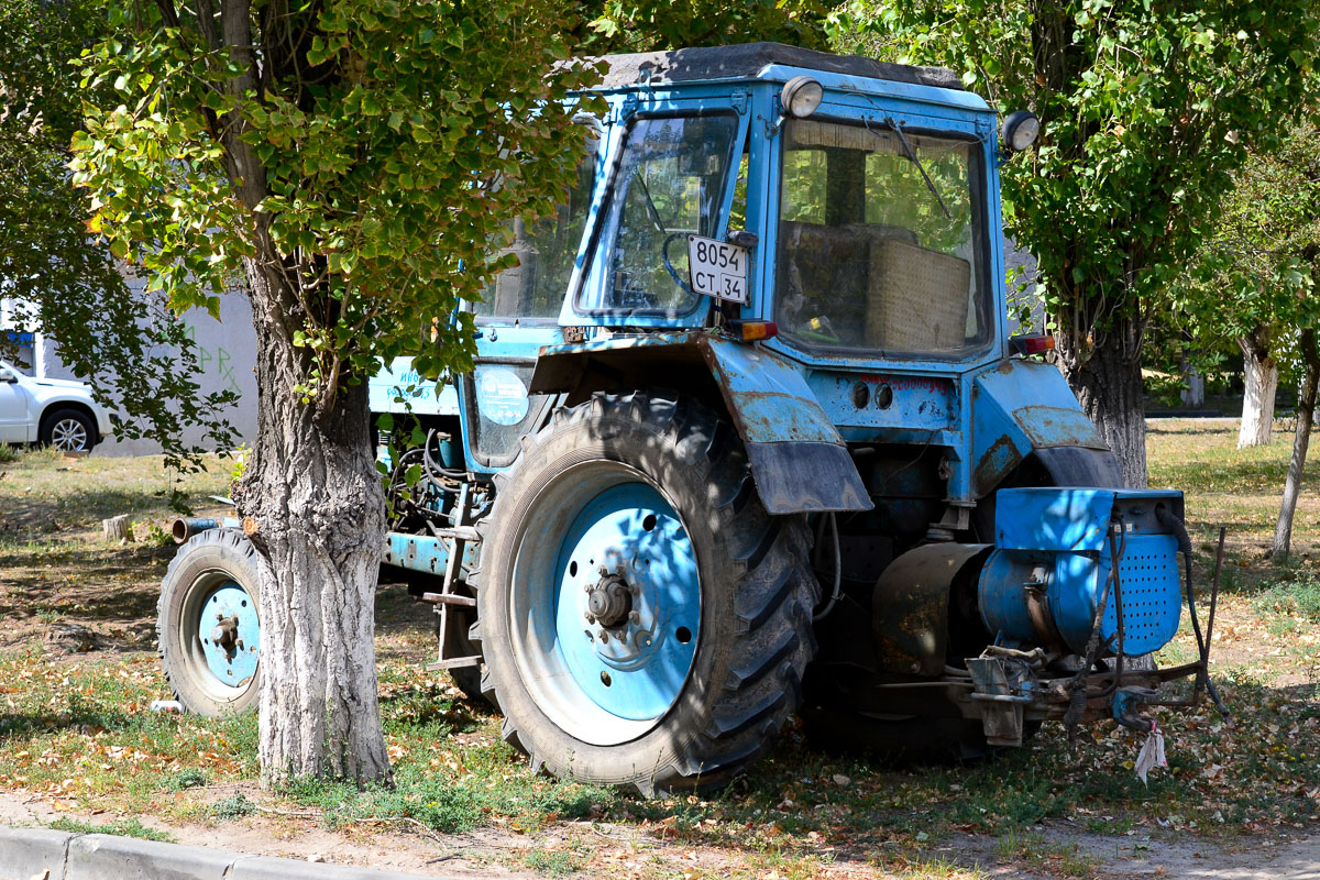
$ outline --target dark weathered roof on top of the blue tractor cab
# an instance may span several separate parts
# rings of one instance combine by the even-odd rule
[[[748,42],[737,46],[642,51],[627,55],[605,55],[609,70],[601,83],[605,88],[649,83],[682,83],[710,79],[755,79],[770,66],[818,70],[846,77],[887,79],[890,82],[954,88],[962,80],[946,67],[894,65],[861,55],[833,55],[812,49],[785,46],[779,42]]]

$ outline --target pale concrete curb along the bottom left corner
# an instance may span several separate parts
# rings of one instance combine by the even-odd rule
[[[112,834],[0,826],[0,879],[29,880],[418,880],[424,875],[275,859]],[[434,880],[433,875],[432,880]]]

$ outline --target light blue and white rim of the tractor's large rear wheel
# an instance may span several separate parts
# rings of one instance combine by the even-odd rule
[[[653,728],[682,694],[701,639],[701,581],[688,529],[655,486],[614,462],[577,470],[523,517],[511,641],[541,711],[577,739],[611,745]],[[612,579],[628,587],[634,613],[590,621],[589,590]]]

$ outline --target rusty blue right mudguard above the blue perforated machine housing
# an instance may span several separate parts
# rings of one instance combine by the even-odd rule
[[[1035,453],[1060,486],[1119,486],[1117,463],[1063,373],[1051,364],[1007,360],[972,385],[972,488],[994,491]],[[1061,478],[1061,479],[1060,479]],[[1100,482],[1097,483],[1097,479]]]

